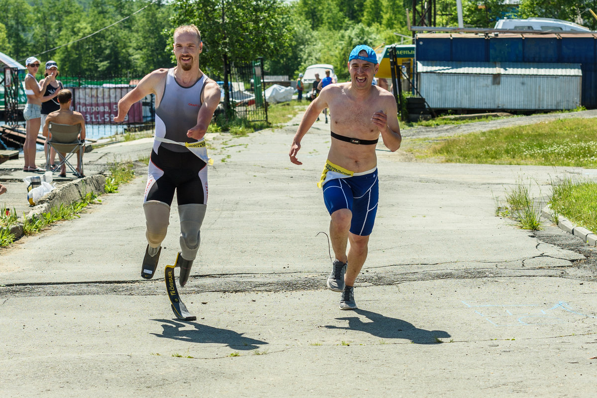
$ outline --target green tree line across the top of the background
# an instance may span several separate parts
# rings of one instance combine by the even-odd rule
[[[195,23],[204,41],[201,67],[214,78],[226,63],[264,57],[269,74],[294,78],[310,64],[327,63],[346,79],[355,45],[411,43],[411,7],[410,0],[0,0],[0,51],[21,63],[40,54],[42,62],[57,61],[63,75],[140,76],[174,66],[173,29]],[[457,25],[455,0],[436,7],[438,26]],[[597,29],[591,7],[597,11],[592,2],[569,0],[521,0],[519,7],[463,0],[463,16],[473,27],[551,17]]]

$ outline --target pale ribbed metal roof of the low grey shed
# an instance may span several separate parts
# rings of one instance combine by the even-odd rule
[[[580,64],[534,62],[417,61],[419,73],[582,76]]]

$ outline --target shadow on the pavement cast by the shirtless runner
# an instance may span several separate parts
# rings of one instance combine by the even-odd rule
[[[358,316],[347,316],[336,318],[338,321],[348,321],[347,327],[326,325],[328,329],[350,329],[367,332],[380,338],[404,338],[415,344],[440,344],[438,338],[450,337],[450,334],[443,330],[425,330],[414,327],[413,324],[402,319],[390,318],[376,312],[355,309],[354,312],[363,315],[372,322],[363,322]]]

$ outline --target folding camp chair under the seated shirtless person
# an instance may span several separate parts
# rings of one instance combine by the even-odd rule
[[[66,164],[69,167],[70,171],[72,171],[75,175],[79,173],[76,171],[76,168],[69,162],[69,159],[79,154],[79,170],[81,170],[81,175],[83,173],[83,153],[85,151],[85,140],[79,141],[79,133],[81,133],[81,125],[59,125],[58,123],[50,122],[48,125],[48,130],[50,130],[51,138],[48,140],[48,145],[51,148],[54,148],[57,153],[59,153],[60,163],[56,166],[56,169],[52,171],[54,173],[57,170],[60,170],[63,164]],[[49,148],[48,148],[49,149]],[[65,157],[62,157],[62,153],[66,153]],[[48,150],[48,157],[46,158],[45,167],[48,169],[50,167],[50,151]]]

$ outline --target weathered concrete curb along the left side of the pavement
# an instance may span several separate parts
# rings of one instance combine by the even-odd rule
[[[25,217],[31,219],[33,216],[48,213],[53,207],[59,207],[61,204],[69,205],[81,201],[90,192],[103,194],[104,184],[106,184],[106,176],[101,174],[67,182],[67,184],[61,185],[41,197],[38,204]],[[11,226],[10,233],[14,234],[15,240],[21,238],[23,236],[23,223]]]

